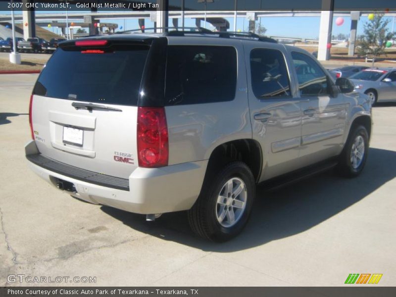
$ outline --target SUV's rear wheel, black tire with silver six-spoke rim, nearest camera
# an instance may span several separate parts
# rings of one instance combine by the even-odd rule
[[[224,242],[245,227],[255,196],[255,183],[243,162],[227,164],[214,178],[205,178],[194,206],[188,211],[191,228],[203,238]]]

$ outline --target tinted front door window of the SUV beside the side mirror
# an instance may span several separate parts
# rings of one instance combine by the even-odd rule
[[[294,66],[296,68],[300,96],[327,95],[327,76],[320,66],[309,56],[292,52]]]

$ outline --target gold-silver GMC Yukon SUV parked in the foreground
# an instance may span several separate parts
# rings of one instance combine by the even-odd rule
[[[307,51],[227,32],[62,42],[29,114],[26,157],[47,182],[148,220],[187,210],[213,241],[244,228],[258,183],[357,176],[372,127],[368,97]]]

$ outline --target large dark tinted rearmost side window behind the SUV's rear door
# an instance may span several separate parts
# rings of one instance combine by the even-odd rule
[[[165,104],[230,101],[237,85],[233,47],[170,46],[166,64]]]

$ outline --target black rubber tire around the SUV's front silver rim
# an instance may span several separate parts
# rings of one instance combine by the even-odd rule
[[[352,148],[355,148],[354,142],[358,137],[363,138],[364,152],[360,164],[357,167],[355,167],[353,166],[351,151]],[[354,128],[352,127],[351,131],[349,132],[347,143],[345,144],[345,147],[342,153],[340,154],[339,163],[337,165],[338,173],[341,176],[348,178],[353,178],[358,176],[363,171],[364,165],[366,164],[368,148],[369,148],[369,138],[368,138],[367,129],[364,126],[355,126]],[[355,165],[357,165],[357,163]]]

